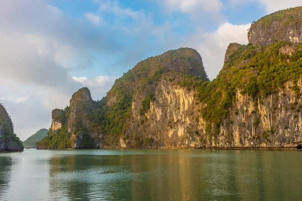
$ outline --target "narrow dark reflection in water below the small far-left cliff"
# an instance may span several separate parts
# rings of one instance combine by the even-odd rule
[[[5,200],[6,193],[10,188],[12,173],[12,158],[0,157],[0,200]]]

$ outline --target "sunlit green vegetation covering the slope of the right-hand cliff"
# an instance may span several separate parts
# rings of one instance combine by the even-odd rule
[[[216,79],[190,83],[198,89],[200,102],[206,104],[201,109],[201,115],[209,124],[208,132],[211,129],[214,129],[214,135],[218,132],[222,120],[229,114],[237,90],[260,101],[262,96],[284,88],[284,83],[291,80],[292,89],[299,91],[297,81],[302,74],[302,46],[292,47],[300,49],[291,56],[279,53],[284,46],[292,47],[290,42],[285,41],[268,47],[240,46],[225,61]]]

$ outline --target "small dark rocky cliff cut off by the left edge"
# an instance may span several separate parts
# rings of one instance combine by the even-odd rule
[[[6,109],[0,104],[0,152],[23,151],[20,139],[14,133],[14,125]]]

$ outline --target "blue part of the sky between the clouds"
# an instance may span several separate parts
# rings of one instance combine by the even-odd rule
[[[208,9],[202,10],[203,14],[197,15],[193,14],[195,11],[183,12],[181,10],[172,9],[171,11],[165,7],[164,4],[156,3],[156,1],[148,0],[133,0],[133,1],[84,1],[84,0],[66,0],[59,1],[54,0],[51,2],[51,5],[55,6],[59,10],[63,11],[64,14],[70,18],[82,19],[85,18],[85,15],[88,13],[94,16],[96,19],[99,18],[100,22],[92,23],[95,24],[93,29],[95,32],[104,31],[104,29],[110,29],[113,26],[125,26],[133,27],[139,26],[139,20],[133,19],[129,15],[120,15],[114,11],[101,10],[102,4],[108,4],[109,7],[118,7],[120,12],[123,10],[128,10],[135,13],[140,13],[145,18],[149,18],[148,23],[152,23],[150,29],[145,28],[145,31],[152,32],[154,27],[157,29],[169,29],[165,33],[162,33],[162,36],[159,35],[149,35],[145,39],[142,39],[144,42],[138,42],[135,40],[136,35],[128,35],[123,33],[123,31],[112,31],[110,32],[113,40],[115,40],[119,45],[124,47],[125,51],[131,51],[129,46],[142,45],[142,51],[139,50],[139,54],[129,55],[130,58],[123,58],[125,52],[115,55],[102,55],[96,53],[96,59],[92,68],[88,70],[81,69],[81,71],[72,72],[73,76],[87,76],[94,77],[95,74],[106,74],[110,76],[121,76],[123,72],[126,72],[128,69],[133,67],[139,60],[145,59],[150,56],[161,54],[169,49],[184,47],[185,40],[190,37],[191,34],[198,32],[198,29],[201,27],[203,32],[213,32],[218,29],[218,27],[228,22],[233,25],[246,25],[252,21],[259,19],[261,16],[265,15],[265,7],[259,6],[255,3],[246,3],[246,4],[236,4],[230,1],[221,1],[221,8],[219,12],[212,13]],[[100,11],[101,10],[101,11]],[[108,9],[110,10],[110,9]],[[191,13],[192,12],[192,13]],[[196,19],[193,19],[196,18]],[[87,19],[88,20],[88,19]],[[142,20],[143,21],[143,20]],[[148,24],[147,24],[148,25]],[[165,30],[162,30],[165,31]],[[172,33],[168,33],[172,32]],[[159,38],[169,37],[169,34],[173,34],[177,44],[159,44]],[[89,37],[89,36],[88,36]],[[184,43],[182,43],[184,41]],[[128,50],[129,48],[129,50]],[[133,48],[132,51],[135,48]],[[131,54],[131,53],[130,53]],[[122,62],[119,60],[126,59],[127,62]],[[125,61],[125,60],[123,60]],[[221,67],[221,66],[219,66]],[[209,74],[210,78],[214,78],[217,71],[212,74]]]

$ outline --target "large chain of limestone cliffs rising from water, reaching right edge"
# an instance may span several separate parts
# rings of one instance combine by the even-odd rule
[[[302,23],[300,8],[272,15],[280,13]],[[102,100],[80,89],[70,107],[53,111],[39,148],[300,147],[302,45],[291,43],[282,21],[258,40],[257,23],[249,32],[255,44],[230,44],[212,81],[200,55],[181,48],[139,62]]]

